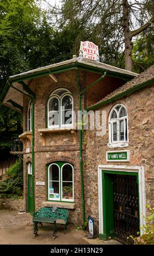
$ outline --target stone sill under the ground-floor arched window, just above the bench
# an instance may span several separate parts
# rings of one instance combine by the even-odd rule
[[[56,206],[57,208],[63,208],[63,209],[75,209],[76,208],[76,203],[47,201],[47,202],[42,202],[42,206],[43,207]]]

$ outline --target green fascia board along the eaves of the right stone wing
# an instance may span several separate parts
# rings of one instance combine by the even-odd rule
[[[154,78],[152,78],[152,79],[149,80],[149,81],[140,83],[140,84],[138,84],[137,86],[134,86],[134,87],[132,87],[132,88],[126,90],[126,91],[123,92],[123,93],[120,93],[120,94],[118,94],[118,95],[115,95],[115,96],[111,97],[110,99],[104,100],[104,101],[102,101],[102,102],[100,102],[100,103],[98,103],[98,104],[96,104],[96,105],[94,105],[94,106],[88,107],[86,110],[87,110],[87,111],[90,111],[90,110],[99,108],[99,107],[101,107],[101,106],[110,104],[110,103],[112,103],[112,102],[114,102],[114,101],[116,101],[116,100],[122,99],[123,97],[125,97],[125,96],[127,96],[127,95],[130,95],[130,94],[136,92],[136,91],[139,90],[139,89],[142,89],[142,88],[144,88],[144,87],[146,87],[146,86],[149,86],[149,85],[152,84],[152,83],[154,83]]]

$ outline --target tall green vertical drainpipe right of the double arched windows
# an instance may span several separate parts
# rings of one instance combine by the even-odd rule
[[[80,94],[80,79],[79,79],[79,70],[76,70],[76,80],[78,82],[78,92],[79,92],[79,111],[81,114],[81,94]],[[82,114],[80,120],[82,118]],[[82,222],[83,230],[85,229],[85,197],[84,197],[84,181],[83,181],[83,164],[82,164],[82,130],[79,130],[79,139],[80,139],[80,175],[81,175],[81,193],[82,193]]]

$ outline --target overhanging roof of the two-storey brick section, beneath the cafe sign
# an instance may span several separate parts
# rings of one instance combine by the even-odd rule
[[[119,69],[111,65],[95,62],[94,60],[81,57],[73,58],[64,62],[10,76],[0,97],[0,103],[3,103],[5,106],[13,108],[16,111],[22,112],[23,94],[29,95],[29,83],[31,79],[51,74],[59,74],[61,72],[74,69],[95,72],[101,75],[106,72],[106,76],[117,77],[126,81],[131,80],[134,76],[138,75],[134,72]]]

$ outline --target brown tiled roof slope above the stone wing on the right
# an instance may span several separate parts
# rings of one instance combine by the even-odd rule
[[[122,97],[152,83],[154,83],[154,65],[133,78],[131,81],[125,83],[123,86],[105,96],[102,100],[89,107],[88,110],[100,107],[101,105],[106,105],[114,100],[121,99]]]

